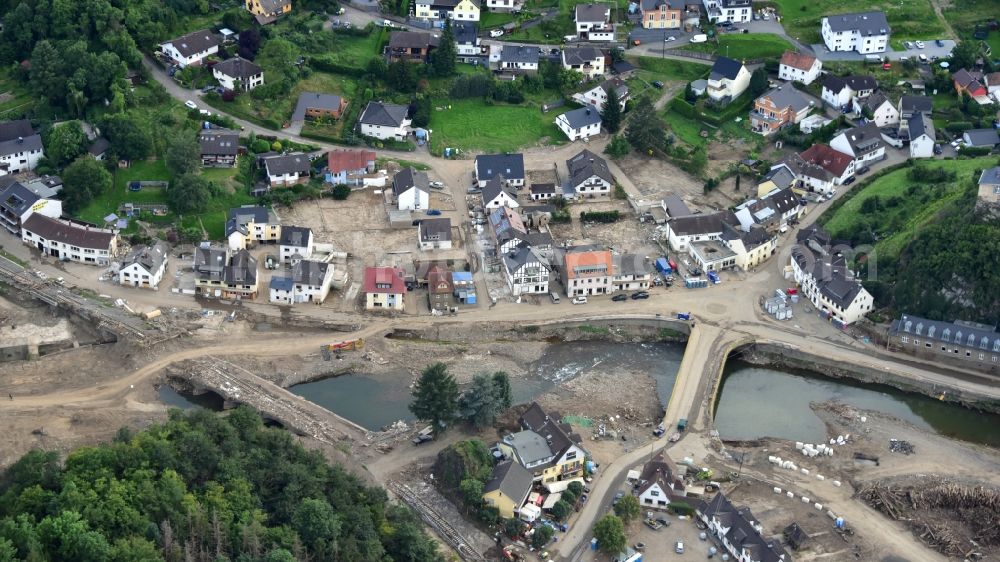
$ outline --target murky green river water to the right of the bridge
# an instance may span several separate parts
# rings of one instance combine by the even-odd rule
[[[831,401],[888,414],[963,441],[1000,447],[1000,415],[888,386],[759,367],[739,360],[726,363],[715,428],[723,439],[776,437],[822,443],[829,436],[809,403]]]

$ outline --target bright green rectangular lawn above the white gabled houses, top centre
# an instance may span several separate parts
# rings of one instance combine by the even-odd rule
[[[495,104],[481,99],[439,101],[431,113],[431,151],[445,147],[483,152],[508,152],[522,147],[563,144],[566,137],[555,126],[555,118],[565,112],[560,108],[542,113],[534,105]],[[450,106],[450,107],[449,107]],[[439,107],[449,107],[438,111]]]

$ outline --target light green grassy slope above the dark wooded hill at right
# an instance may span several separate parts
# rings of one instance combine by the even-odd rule
[[[860,188],[858,193],[835,209],[831,216],[827,216],[829,214],[827,213],[820,217],[820,222],[835,239],[846,237],[848,233],[869,227],[884,232],[886,229],[892,228],[890,225],[895,225],[896,228],[886,233],[887,237],[875,244],[875,250],[886,257],[897,256],[913,239],[920,227],[934,220],[935,215],[946,203],[958,198],[967,189],[969,178],[974,170],[985,168],[993,163],[995,163],[994,158],[922,162],[921,165],[928,168],[954,170],[958,176],[957,181],[946,184],[944,190],[938,194],[939,196],[929,202],[922,202],[919,198],[907,196],[907,189],[913,184],[907,177],[909,168],[892,171],[871,183],[856,187],[855,189]],[[891,197],[899,197],[901,203],[889,210],[880,210],[878,213],[866,216],[860,211],[861,205],[866,199],[875,196],[878,196],[882,201]],[[876,224],[870,225],[870,220],[875,221]]]

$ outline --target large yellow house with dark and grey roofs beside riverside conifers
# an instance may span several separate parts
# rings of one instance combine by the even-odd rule
[[[559,414],[550,417],[532,403],[521,416],[522,430],[504,436],[497,447],[506,458],[529,470],[534,481],[548,484],[582,476],[587,451],[580,445],[580,436],[560,419]]]

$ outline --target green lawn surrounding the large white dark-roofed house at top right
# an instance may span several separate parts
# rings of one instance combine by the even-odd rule
[[[892,28],[892,43],[909,39],[940,39],[946,36],[943,22],[931,7],[931,0],[840,0],[835,5],[815,0],[774,0],[785,31],[805,43],[819,43],[823,16],[848,12],[882,10]],[[989,0],[983,4],[990,3]],[[996,2],[993,0],[992,5]],[[982,12],[986,13],[986,12]]]

